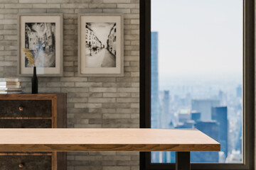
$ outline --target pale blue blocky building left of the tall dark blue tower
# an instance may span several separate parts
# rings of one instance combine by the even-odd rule
[[[201,120],[211,120],[211,108],[220,106],[219,100],[203,99],[203,100],[192,100],[192,111],[198,111],[201,113]]]

